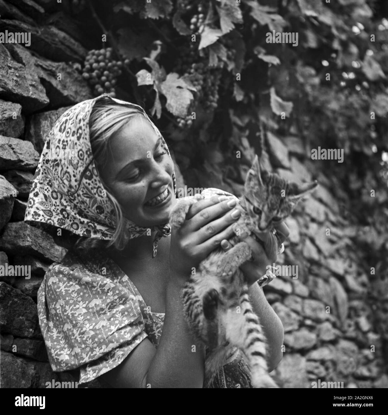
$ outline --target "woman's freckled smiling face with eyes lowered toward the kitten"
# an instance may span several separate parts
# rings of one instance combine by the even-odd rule
[[[176,203],[174,164],[141,115],[111,137],[106,164],[99,172],[127,219],[142,227],[168,222]]]

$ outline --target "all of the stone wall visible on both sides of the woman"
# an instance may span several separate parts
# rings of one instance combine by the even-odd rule
[[[0,1],[2,27],[32,32],[30,48],[0,44],[0,264],[30,265],[32,271],[29,279],[0,275],[3,388],[77,380],[51,371],[37,320],[44,273],[66,251],[23,218],[46,135],[69,106],[92,93],[76,69],[86,54],[76,31],[73,38],[48,22],[37,30],[33,19],[40,19],[49,2],[37,3],[25,2],[31,7],[27,15]],[[266,144],[268,167],[279,174],[307,181],[316,173],[298,137],[280,141],[268,134]],[[354,241],[365,229],[344,215],[340,201],[346,200],[346,189],[333,188],[335,181],[324,173],[318,181],[313,197],[287,220],[291,233],[276,264],[297,265],[298,278],[280,275],[265,288],[285,330],[276,377],[285,388],[310,388],[318,379],[343,381],[344,387],[386,388],[387,286],[363,271]]]

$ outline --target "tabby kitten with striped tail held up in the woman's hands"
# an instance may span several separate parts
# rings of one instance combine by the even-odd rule
[[[244,192],[237,205],[242,214],[237,221],[240,234],[271,232],[296,203],[317,186],[317,182],[297,185],[261,169],[256,156],[246,176]],[[170,214],[170,224],[181,227],[196,198],[179,199]],[[275,241],[276,238],[274,237]],[[277,388],[268,374],[266,338],[259,317],[252,310],[248,285],[239,266],[251,259],[252,251],[236,235],[225,252],[213,251],[199,266],[183,289],[185,315],[193,334],[209,349],[205,361],[205,386],[210,385],[225,358],[239,348],[246,356],[254,388]],[[274,242],[278,244],[278,242]],[[278,248],[278,247],[277,247]]]

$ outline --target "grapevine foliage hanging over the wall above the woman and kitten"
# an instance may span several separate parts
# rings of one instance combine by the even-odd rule
[[[190,25],[200,4],[203,24]],[[365,252],[365,259],[387,268],[382,255],[388,233],[386,2],[134,0],[89,5],[91,10],[86,3],[77,10],[70,2],[68,8],[88,32],[83,44],[90,49],[112,46],[117,59],[127,59],[117,97],[142,103],[154,116],[188,186],[240,193],[254,152],[266,157],[268,134],[286,141],[300,137],[306,154],[318,146],[344,149],[343,164],[322,163],[320,170],[338,190],[344,215],[385,230],[381,237],[364,235],[358,242],[381,238],[375,241],[381,250]],[[298,46],[266,43],[266,33],[273,30],[297,32]],[[102,34],[107,41],[99,44]],[[198,75],[203,79],[198,81]],[[193,111],[195,120],[181,127]]]

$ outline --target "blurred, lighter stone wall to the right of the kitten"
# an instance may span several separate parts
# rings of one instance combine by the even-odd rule
[[[357,245],[370,229],[351,223],[344,189],[322,171],[317,175],[325,161],[317,166],[307,158],[298,137],[281,142],[269,134],[267,144],[281,176],[301,182],[314,173],[320,183],[286,220],[290,237],[278,264],[298,265],[298,278],[280,275],[265,288],[285,331],[279,383],[311,388],[320,379],[387,388],[387,282],[364,271]]]

